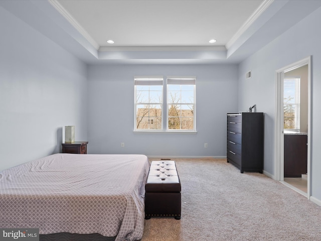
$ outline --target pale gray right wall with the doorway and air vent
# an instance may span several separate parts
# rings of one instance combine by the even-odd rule
[[[312,95],[312,143],[311,143],[311,195],[321,199],[321,126],[318,121],[321,111],[321,46],[318,36],[321,29],[321,9],[284,32],[239,65],[239,108],[257,104],[257,111],[265,112],[264,170],[274,173],[274,122],[276,103],[275,71],[296,61],[312,56],[311,95]],[[245,73],[252,70],[252,78],[245,79]]]

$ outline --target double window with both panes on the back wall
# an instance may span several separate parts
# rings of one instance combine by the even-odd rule
[[[173,77],[164,85],[162,76],[136,76],[134,131],[196,131],[195,82]]]

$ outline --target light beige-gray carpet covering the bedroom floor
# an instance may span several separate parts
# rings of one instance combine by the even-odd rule
[[[175,161],[182,219],[145,220],[141,241],[321,240],[321,207],[283,184],[225,159]]]

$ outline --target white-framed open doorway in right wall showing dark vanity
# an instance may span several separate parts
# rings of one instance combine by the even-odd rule
[[[275,176],[276,180],[279,180],[284,185],[292,188],[293,190],[301,193],[306,196],[308,199],[310,197],[310,106],[311,106],[311,93],[310,93],[310,57],[305,58],[301,61],[295,62],[288,66],[285,66],[276,71],[276,118],[275,118]],[[298,96],[301,94],[302,101],[297,103],[296,101],[288,101],[289,99],[293,100],[297,97],[294,95],[289,96],[286,93],[292,91],[288,89],[288,86],[284,83],[295,83],[293,86],[299,86]],[[292,88],[294,89],[294,87]],[[303,95],[303,97],[302,97]],[[287,105],[287,102],[290,104]],[[296,106],[296,107],[295,107]],[[291,109],[291,114],[287,113],[286,108]],[[284,112],[285,111],[285,112]],[[295,114],[294,114],[295,113]],[[291,115],[291,117],[289,117]],[[294,122],[295,124],[291,123]],[[284,122],[285,120],[285,122]],[[290,123],[290,124],[289,124]],[[292,125],[293,124],[293,125]],[[299,152],[303,156],[306,156],[305,170],[302,171],[299,175],[298,171],[291,170],[291,167],[296,166],[288,162],[290,159],[293,161],[293,156],[288,157],[289,153],[292,153],[293,150],[297,150],[297,147],[289,151],[288,144],[289,140],[297,140],[298,138],[306,138],[304,141],[300,141],[302,149],[305,147],[305,154]],[[285,143],[284,143],[285,141]],[[292,142],[292,141],[291,141]],[[295,141],[296,143],[297,141]],[[305,143],[306,142],[306,143]],[[306,147],[307,146],[307,147]],[[285,158],[284,158],[285,155]],[[285,159],[285,160],[284,160]],[[303,164],[300,161],[300,165]],[[304,166],[303,165],[303,166]],[[306,171],[306,174],[304,173]],[[296,176],[295,176],[296,175]],[[303,186],[302,186],[303,185]]]

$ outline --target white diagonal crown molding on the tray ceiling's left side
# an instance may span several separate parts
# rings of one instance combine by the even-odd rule
[[[71,16],[71,14],[57,1],[48,0],[48,2],[92,45],[96,50],[99,49],[97,42],[88,34],[88,32]]]

